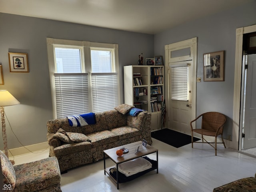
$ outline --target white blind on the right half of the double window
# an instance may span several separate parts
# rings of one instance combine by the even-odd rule
[[[118,73],[92,74],[92,103],[94,112],[118,106]]]

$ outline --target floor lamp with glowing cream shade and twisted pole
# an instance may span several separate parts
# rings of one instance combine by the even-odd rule
[[[6,128],[5,128],[5,119],[4,119],[4,107],[17,105],[20,102],[10,94],[7,90],[0,90],[0,114],[1,114],[1,122],[2,122],[2,136],[4,141],[4,154],[8,157],[8,148],[7,148],[7,137],[6,137]],[[11,160],[12,164],[14,161]]]

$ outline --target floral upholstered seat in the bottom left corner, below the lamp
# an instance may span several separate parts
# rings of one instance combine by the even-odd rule
[[[36,192],[55,186],[60,191],[60,168],[56,157],[14,166],[16,172],[15,192]]]

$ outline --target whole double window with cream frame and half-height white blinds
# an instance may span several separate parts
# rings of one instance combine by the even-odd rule
[[[47,38],[54,118],[120,104],[118,45]]]

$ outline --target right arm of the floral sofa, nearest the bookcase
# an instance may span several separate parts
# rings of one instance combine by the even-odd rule
[[[127,126],[136,128],[142,132],[142,138],[148,144],[152,144],[151,139],[151,114],[149,112],[140,112],[137,116],[128,116]]]

